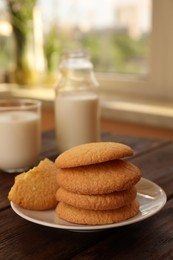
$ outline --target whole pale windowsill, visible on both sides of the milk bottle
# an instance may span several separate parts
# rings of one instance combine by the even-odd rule
[[[44,107],[53,109],[54,89],[19,88],[14,85],[0,85],[1,98],[40,99]],[[173,105],[158,100],[137,100],[130,97],[101,96],[101,114],[103,118],[141,123],[150,126],[173,129]]]

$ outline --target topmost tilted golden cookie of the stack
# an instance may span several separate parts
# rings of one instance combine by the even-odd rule
[[[75,146],[55,160],[58,168],[70,168],[120,159],[133,155],[133,150],[121,143],[98,142]]]

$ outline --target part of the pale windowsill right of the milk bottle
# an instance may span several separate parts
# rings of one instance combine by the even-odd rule
[[[102,116],[149,126],[173,129],[173,106],[137,103],[133,100],[102,101]]]

